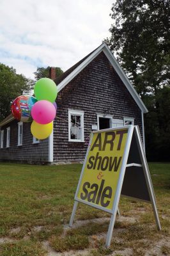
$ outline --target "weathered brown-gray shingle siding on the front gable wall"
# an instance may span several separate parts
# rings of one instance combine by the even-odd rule
[[[142,135],[141,109],[128,92],[111,63],[101,52],[63,90],[58,93],[59,118],[68,121],[68,109],[84,111],[84,140],[91,125],[97,124],[97,113],[114,118],[135,118]],[[68,122],[54,121],[54,161],[83,161],[88,143],[68,141]]]

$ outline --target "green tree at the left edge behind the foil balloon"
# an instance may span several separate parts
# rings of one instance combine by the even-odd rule
[[[12,101],[23,93],[29,93],[32,87],[33,80],[0,63],[0,120],[11,113]]]

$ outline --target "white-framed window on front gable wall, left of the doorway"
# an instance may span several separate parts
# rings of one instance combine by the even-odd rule
[[[68,141],[84,142],[84,112],[68,111]]]

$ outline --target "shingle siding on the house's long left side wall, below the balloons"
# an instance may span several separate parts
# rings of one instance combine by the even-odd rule
[[[23,123],[22,146],[18,145],[18,121],[13,120],[1,127],[4,130],[4,145],[0,148],[0,160],[27,161],[29,163],[49,161],[49,139],[33,144],[31,123]],[[10,147],[6,148],[6,128],[10,127]]]

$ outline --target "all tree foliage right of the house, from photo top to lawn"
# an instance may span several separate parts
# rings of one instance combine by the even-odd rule
[[[105,42],[149,110],[144,118],[148,159],[168,160],[169,1],[116,0],[111,10],[111,37]]]

